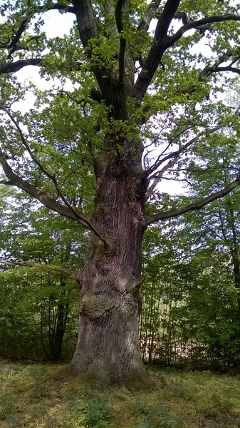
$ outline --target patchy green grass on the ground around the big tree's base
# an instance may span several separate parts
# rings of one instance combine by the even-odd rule
[[[81,387],[58,365],[0,363],[1,428],[236,428],[240,375],[150,370],[158,389]]]

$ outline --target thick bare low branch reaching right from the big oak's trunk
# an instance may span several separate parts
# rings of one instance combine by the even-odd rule
[[[213,200],[223,198],[224,196],[228,195],[228,193],[230,193],[231,190],[234,190],[234,188],[236,188],[236,186],[238,185],[240,185],[240,177],[236,178],[236,180],[226,185],[225,188],[219,190],[218,192],[212,193],[212,195],[206,196],[206,198],[198,200],[197,202],[189,203],[189,205],[184,205],[179,208],[172,208],[172,210],[163,211],[162,213],[149,215],[147,217],[147,225],[155,223],[156,221],[159,221],[159,220],[165,220],[167,218],[177,217],[178,215],[188,213],[188,211],[199,210],[200,208],[204,207],[205,205],[212,202]]]

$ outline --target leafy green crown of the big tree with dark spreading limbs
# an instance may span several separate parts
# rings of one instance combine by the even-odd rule
[[[44,12],[53,10],[77,19],[63,39],[48,39],[41,31]],[[105,133],[115,136],[115,156],[122,151],[124,136],[157,148],[154,159],[145,153],[147,197],[166,170],[179,169],[182,163],[187,168],[192,153],[204,144],[216,146],[220,134],[225,133],[223,143],[229,141],[229,132],[231,139],[236,136],[238,120],[218,93],[228,91],[239,73],[237,5],[6,1],[1,15],[1,111],[6,123],[1,129],[2,168],[9,184],[90,230],[88,211],[83,215],[79,201],[70,200],[75,188],[81,198],[85,191],[94,193],[93,165],[104,149]],[[39,91],[26,83],[23,88],[16,72],[28,65],[39,66],[43,78],[58,77],[58,86]],[[65,90],[69,80],[71,92]],[[113,99],[115,84],[120,92],[125,88],[125,106],[117,95]],[[16,103],[16,110],[28,91],[36,95],[36,108],[25,115],[12,113],[11,106]],[[19,173],[13,153],[21,158]],[[126,162],[131,162],[130,154]],[[157,213],[147,223],[201,208],[228,193],[238,178],[228,184],[223,193]]]

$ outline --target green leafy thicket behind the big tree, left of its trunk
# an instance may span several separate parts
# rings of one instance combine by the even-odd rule
[[[2,190],[1,257],[10,268],[16,263],[8,260],[21,258],[22,266],[4,265],[0,274],[1,357],[68,359],[75,346],[79,287],[62,274],[68,263],[80,269],[84,238],[79,230],[75,234],[74,223],[29,204],[20,192]]]

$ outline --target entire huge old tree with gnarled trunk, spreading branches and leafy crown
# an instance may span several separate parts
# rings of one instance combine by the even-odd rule
[[[48,40],[41,32],[43,12],[53,9],[75,15],[65,39]],[[202,208],[240,182],[237,176],[202,200],[167,211],[151,212],[146,205],[184,156],[205,144],[215,148],[226,127],[238,133],[236,116],[214,97],[228,88],[228,80],[219,88],[219,73],[239,73],[239,10],[225,1],[21,0],[4,2],[1,14],[1,183],[91,231],[72,365],[105,382],[122,382],[142,373],[145,229]],[[210,58],[194,53],[205,45],[211,46]],[[61,86],[21,88],[11,73],[28,65],[40,66],[47,79],[60,78]],[[71,93],[66,79],[73,83]],[[35,108],[13,113],[14,101],[30,88]],[[157,148],[155,158],[144,153],[150,144]]]

